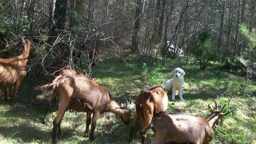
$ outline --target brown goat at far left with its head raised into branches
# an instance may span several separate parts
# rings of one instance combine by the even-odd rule
[[[13,103],[16,100],[20,83],[26,76],[26,64],[28,62],[29,51],[30,41],[27,40],[20,56],[15,56],[8,59],[0,58],[0,87],[9,87],[11,106],[13,106]],[[6,95],[5,100],[7,101]]]

